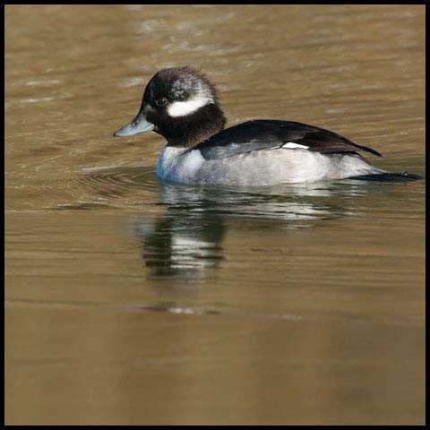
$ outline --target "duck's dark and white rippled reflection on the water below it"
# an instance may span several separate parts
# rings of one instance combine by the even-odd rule
[[[182,279],[206,277],[219,267],[228,228],[263,234],[267,228],[313,227],[347,215],[340,197],[360,193],[357,185],[333,184],[238,190],[160,181],[158,187],[158,204],[167,211],[155,219],[133,217],[133,232],[151,274]]]

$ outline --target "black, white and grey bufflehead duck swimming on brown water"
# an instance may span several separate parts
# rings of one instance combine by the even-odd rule
[[[340,134],[292,121],[254,120],[224,129],[215,86],[191,67],[170,67],[146,86],[133,121],[114,136],[154,131],[167,139],[157,176],[184,184],[277,185],[357,177],[417,178],[371,166],[381,154]]]

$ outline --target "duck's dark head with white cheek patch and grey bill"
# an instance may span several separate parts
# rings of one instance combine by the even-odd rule
[[[216,88],[209,79],[191,67],[169,67],[151,78],[139,113],[114,136],[153,130],[170,145],[193,147],[225,124]]]

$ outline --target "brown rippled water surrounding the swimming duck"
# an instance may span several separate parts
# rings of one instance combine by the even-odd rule
[[[424,424],[425,181],[162,183],[153,73],[425,174],[424,6],[6,6],[7,424]]]

